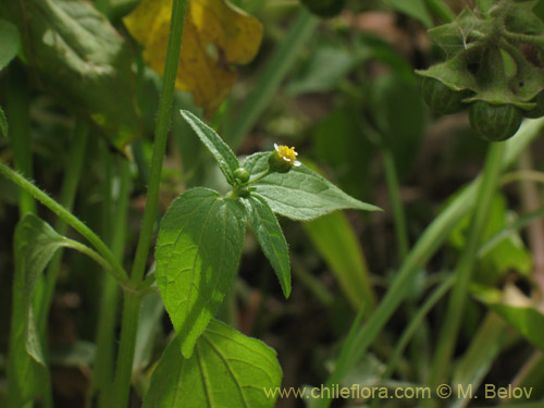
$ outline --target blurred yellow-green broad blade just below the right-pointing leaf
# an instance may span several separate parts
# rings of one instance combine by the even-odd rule
[[[351,306],[356,310],[364,309],[368,316],[375,298],[364,255],[346,215],[334,212],[307,222],[304,227]]]

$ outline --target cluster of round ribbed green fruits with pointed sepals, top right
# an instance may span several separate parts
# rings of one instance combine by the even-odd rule
[[[486,140],[511,137],[522,113],[529,118],[539,114],[537,96],[544,87],[544,65],[539,57],[543,52],[544,23],[532,12],[534,5],[532,1],[504,0],[477,11],[466,8],[454,22],[430,30],[447,60],[418,73],[437,81],[432,82],[434,88],[442,84],[444,96],[432,97],[435,90],[431,90],[429,81],[423,82],[423,95],[430,102],[436,99],[445,103],[453,100],[452,90],[465,91],[465,104],[457,108],[473,104],[472,127]],[[493,118],[495,112],[497,116]],[[498,123],[503,114],[507,119]],[[487,127],[487,120],[496,127]]]

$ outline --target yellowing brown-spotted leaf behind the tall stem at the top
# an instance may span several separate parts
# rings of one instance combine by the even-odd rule
[[[172,0],[143,0],[124,22],[144,49],[146,63],[162,74]],[[236,82],[233,64],[247,64],[259,50],[262,25],[225,0],[190,0],[185,16],[176,88],[193,94],[210,115]]]

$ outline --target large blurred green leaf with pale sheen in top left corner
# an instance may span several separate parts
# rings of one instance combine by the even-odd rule
[[[134,51],[89,1],[3,1],[21,30],[30,72],[123,150],[141,133]]]

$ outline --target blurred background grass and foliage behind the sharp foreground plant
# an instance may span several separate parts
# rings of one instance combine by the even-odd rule
[[[255,45],[255,58],[215,55],[223,67],[245,64],[237,69],[237,81],[222,77],[224,72],[212,74],[234,84],[232,91],[211,90],[212,97],[224,94],[218,100],[197,100],[195,89],[173,95],[159,206],[151,221],[190,187],[228,190],[180,109],[205,118],[240,157],[273,150],[274,143],[296,146],[306,165],[384,211],[337,211],[304,223],[282,218],[293,273],[288,299],[255,234],[247,234],[238,276],[218,318],[277,351],[285,387],[447,382],[472,384],[483,396],[482,384],[515,384],[533,387],[529,400],[436,404],[541,407],[544,150],[539,136],[544,123],[528,120],[514,138],[490,145],[470,127],[466,111],[445,116],[430,111],[415,73],[444,59],[428,28],[486,2],[351,0],[326,20],[298,1],[232,2],[262,24],[262,42]],[[47,18],[28,17],[13,32],[13,24],[4,25],[16,21],[13,4],[0,0],[0,18],[5,18],[0,21],[0,107],[9,124],[9,132],[2,132],[9,137],[0,137],[0,159],[73,209],[128,268],[149,199],[162,84],[162,72],[151,70],[138,35],[123,21],[137,3],[96,0],[94,8],[111,26],[83,25],[95,29],[96,44],[79,51],[97,52],[98,60],[115,69],[116,75],[101,78],[92,73],[95,66],[78,66],[71,54],[62,57],[63,63],[75,70],[64,71],[58,55],[29,47],[36,33],[47,33]],[[544,2],[533,3],[544,21]],[[63,22],[74,37],[84,33]],[[165,54],[166,34],[161,40]],[[10,47],[18,58],[4,62],[2,53],[8,55]],[[182,88],[194,86],[181,82]],[[10,321],[17,294],[14,231],[20,215],[28,212],[61,235],[81,239],[0,177],[0,406],[8,404]],[[153,269],[151,252],[143,252],[146,271]],[[46,276],[38,283],[41,297],[32,301],[48,344],[51,387],[36,406],[89,406],[95,392],[112,381],[123,297],[114,279],[77,251],[58,252]],[[141,405],[172,330],[160,296],[150,293],[143,300],[135,362],[127,374],[131,406]],[[110,346],[97,347],[103,344]],[[327,403],[280,398],[276,405]]]

